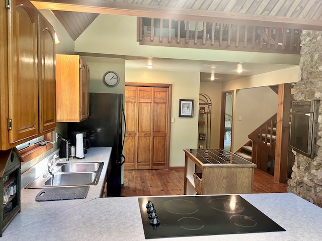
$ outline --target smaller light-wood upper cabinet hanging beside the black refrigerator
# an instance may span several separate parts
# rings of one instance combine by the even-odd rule
[[[79,55],[56,55],[57,122],[81,122],[90,115],[90,68]]]

